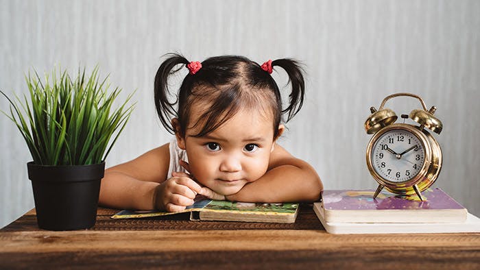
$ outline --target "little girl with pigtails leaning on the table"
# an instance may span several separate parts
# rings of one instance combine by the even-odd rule
[[[180,89],[168,79],[186,66]],[[270,75],[284,69],[291,93],[283,108]],[[276,143],[302,107],[304,79],[298,62],[262,65],[241,56],[189,62],[169,54],[155,77],[155,106],[175,138],[130,162],[106,170],[99,204],[137,210],[184,210],[196,195],[246,202],[314,201],[322,182],[307,162]],[[173,100],[172,100],[173,99]]]

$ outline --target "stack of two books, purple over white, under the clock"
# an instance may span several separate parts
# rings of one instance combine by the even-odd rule
[[[323,191],[313,210],[331,234],[480,232],[480,219],[440,188],[400,196],[383,191]]]

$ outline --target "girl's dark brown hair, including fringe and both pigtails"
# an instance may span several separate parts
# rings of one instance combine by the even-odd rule
[[[202,102],[203,113],[193,127],[202,125],[195,136],[201,137],[235,115],[239,109],[262,108],[269,110],[274,119],[274,138],[283,114],[289,121],[302,108],[304,78],[296,60],[279,59],[272,66],[280,66],[289,77],[291,93],[287,108],[283,109],[280,90],[273,77],[256,62],[242,56],[217,56],[202,62],[195,74],[184,77],[180,89],[171,93],[167,80],[171,75],[189,64],[189,60],[177,53],[169,53],[155,76],[155,107],[163,126],[171,133],[173,117],[178,118],[180,134],[184,136],[189,123],[193,103]],[[179,66],[180,65],[180,66]],[[173,97],[173,100],[170,100]],[[177,107],[177,108],[176,108]]]

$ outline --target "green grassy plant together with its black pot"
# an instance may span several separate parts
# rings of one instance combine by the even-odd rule
[[[121,89],[108,93],[108,76],[99,80],[95,67],[89,77],[78,70],[75,79],[59,69],[25,76],[28,93],[10,99],[10,114],[33,161],[32,180],[38,227],[79,230],[95,225],[105,158],[125,127],[134,105],[113,108]],[[112,139],[113,138],[113,139]]]

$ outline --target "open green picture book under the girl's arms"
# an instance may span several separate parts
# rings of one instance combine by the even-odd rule
[[[212,199],[195,199],[195,203],[180,212],[122,210],[112,219],[139,219],[190,212],[192,221],[243,221],[294,223],[299,204],[261,204]]]

